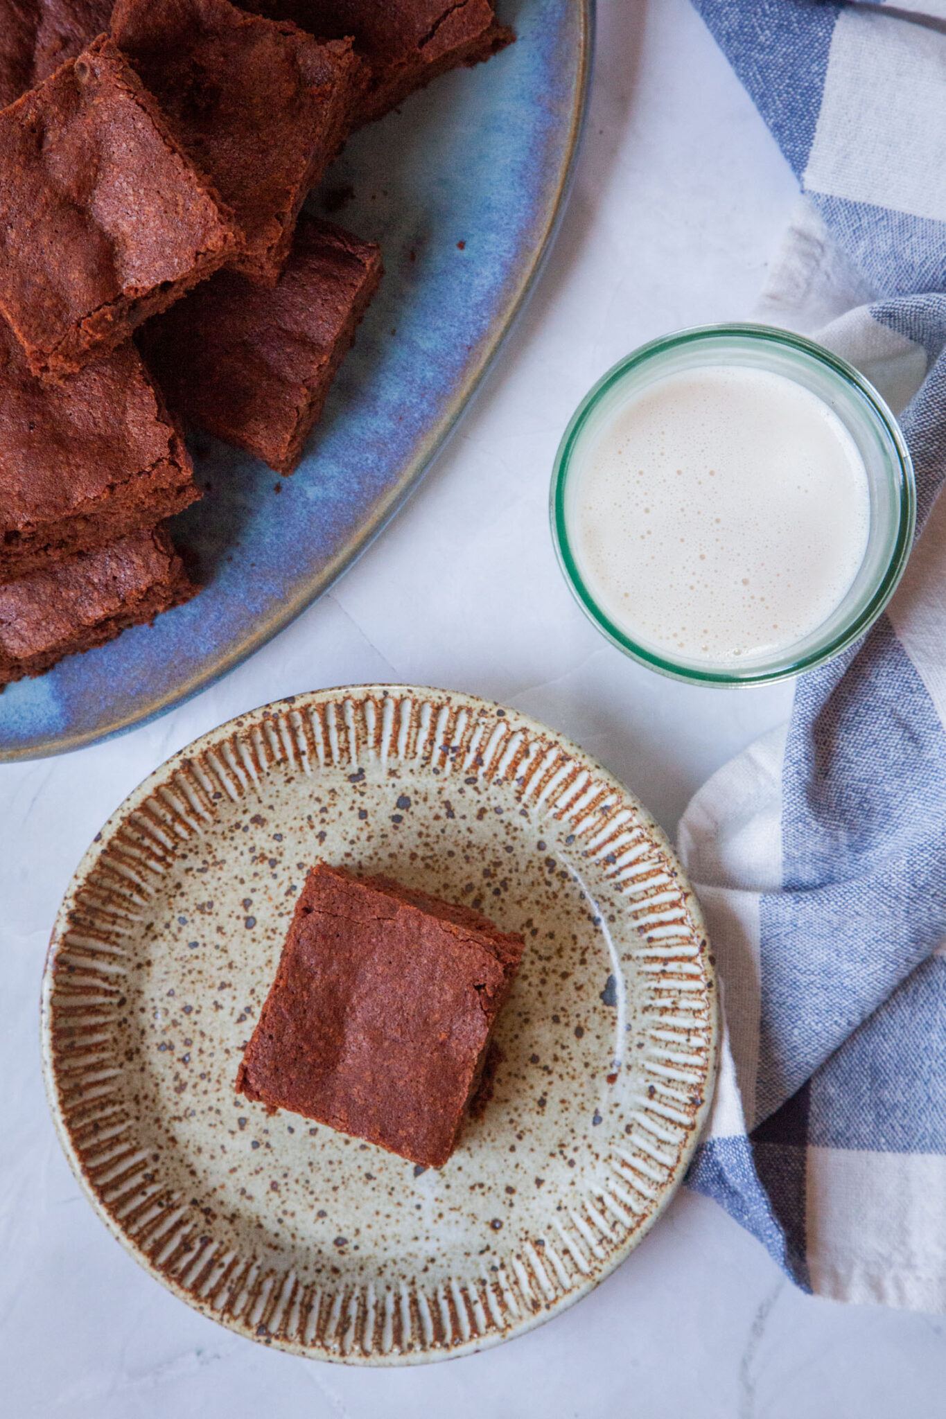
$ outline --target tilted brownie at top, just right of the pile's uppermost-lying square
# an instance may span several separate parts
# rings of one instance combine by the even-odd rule
[[[230,264],[274,284],[366,77],[350,40],[319,44],[228,0],[118,0],[112,34],[233,209],[244,247]]]

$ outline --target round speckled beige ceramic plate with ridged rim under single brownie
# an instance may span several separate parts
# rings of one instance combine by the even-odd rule
[[[494,1098],[440,1171],[234,1093],[316,857],[526,937]],[[532,719],[397,685],[169,759],[82,860],[43,989],[52,1114],[106,1226],[206,1315],[352,1364],[481,1349],[607,1276],[686,1168],[716,1036],[699,908],[644,809]]]

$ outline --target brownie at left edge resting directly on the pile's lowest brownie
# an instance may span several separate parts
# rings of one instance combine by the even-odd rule
[[[0,583],[155,526],[199,497],[130,341],[52,385],[0,321]]]

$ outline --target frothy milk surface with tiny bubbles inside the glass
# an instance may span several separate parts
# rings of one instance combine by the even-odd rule
[[[777,653],[817,627],[867,549],[854,438],[783,375],[669,375],[576,450],[569,522],[589,592],[633,640],[691,663]]]

